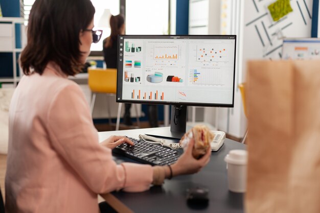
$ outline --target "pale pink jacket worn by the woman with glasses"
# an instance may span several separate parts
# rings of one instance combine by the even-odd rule
[[[83,92],[55,64],[22,77],[9,110],[6,212],[99,212],[97,194],[147,190],[152,175],[112,160]]]

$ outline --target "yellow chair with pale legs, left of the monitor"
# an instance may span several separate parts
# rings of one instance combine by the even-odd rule
[[[115,97],[117,94],[117,69],[88,68],[88,85],[92,91],[92,99],[90,104],[91,114],[93,114],[97,93],[104,93],[108,96]],[[110,103],[108,102],[109,125],[111,123]],[[139,114],[137,107],[133,104],[136,112],[136,122],[140,127]],[[122,103],[118,105],[116,130],[119,130]]]

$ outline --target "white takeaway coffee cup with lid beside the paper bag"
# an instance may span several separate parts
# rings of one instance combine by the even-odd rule
[[[247,151],[231,150],[224,158],[227,163],[228,187],[236,193],[246,190]]]

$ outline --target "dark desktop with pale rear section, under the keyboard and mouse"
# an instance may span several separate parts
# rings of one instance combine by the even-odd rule
[[[123,131],[99,132],[99,141],[110,135],[127,135],[138,138],[154,130],[164,130],[170,127],[134,129]],[[228,191],[227,171],[224,156],[232,149],[245,149],[245,145],[231,139],[225,139],[224,145],[218,152],[212,152],[211,160],[199,173],[174,177],[165,180],[162,186],[153,186],[142,193],[114,192],[134,212],[243,212],[243,194]],[[123,161],[136,162],[123,156],[114,156],[117,163]],[[209,189],[209,205],[203,209],[189,207],[186,202],[186,190],[189,187],[202,186]]]

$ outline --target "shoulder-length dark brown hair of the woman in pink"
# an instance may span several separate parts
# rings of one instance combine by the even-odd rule
[[[48,62],[74,76],[81,71],[80,32],[93,20],[95,8],[90,0],[36,0],[28,23],[28,42],[21,52],[25,75],[42,75]]]

